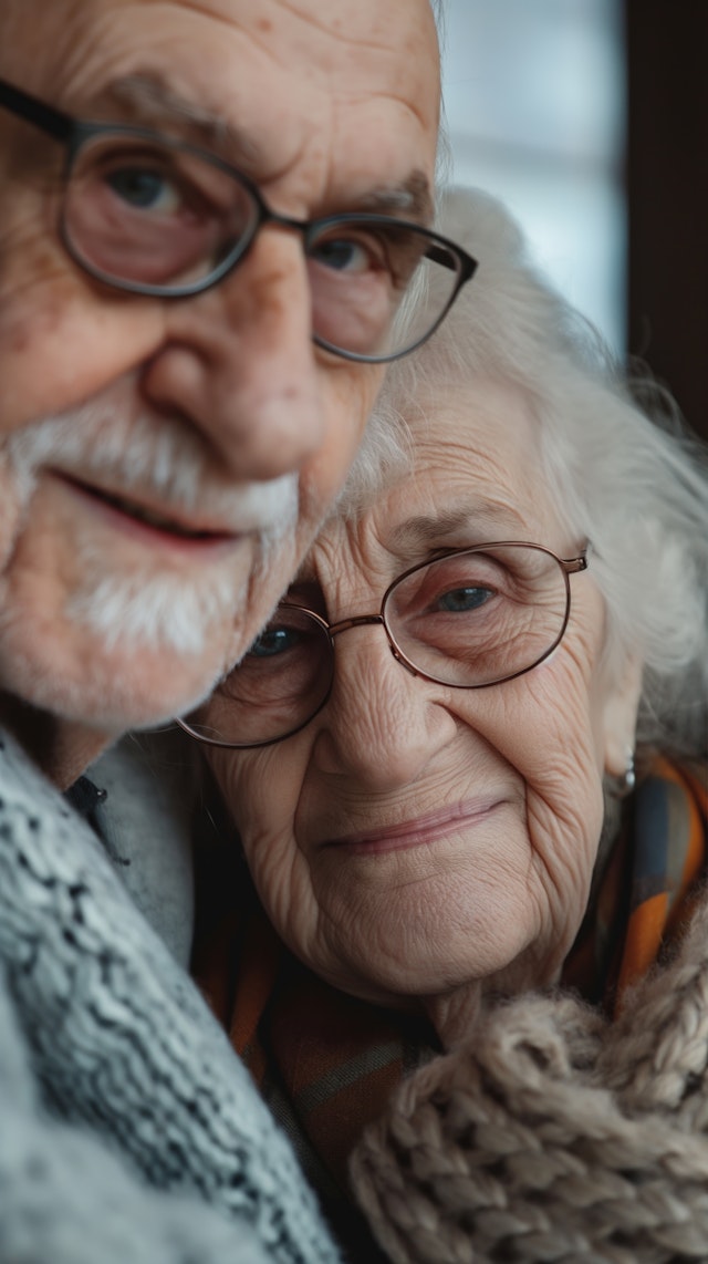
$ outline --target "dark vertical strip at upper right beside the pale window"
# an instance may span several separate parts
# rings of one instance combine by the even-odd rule
[[[708,439],[708,0],[625,0],[628,350]]]

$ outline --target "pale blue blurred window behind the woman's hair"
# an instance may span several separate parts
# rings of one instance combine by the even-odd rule
[[[499,196],[546,274],[625,350],[621,0],[445,0],[451,178]]]

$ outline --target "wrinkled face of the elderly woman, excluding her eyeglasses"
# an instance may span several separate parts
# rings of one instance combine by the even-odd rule
[[[415,477],[327,527],[293,585],[330,622],[378,611],[437,551],[584,545],[560,526],[520,392],[479,382],[426,412]],[[592,559],[570,584],[565,637],[526,675],[432,684],[396,662],[381,626],[357,627],[336,637],[330,699],[302,732],[211,751],[269,916],[334,985],[391,1005],[558,976],[588,899],[603,770],[621,771],[635,710],[599,666]]]

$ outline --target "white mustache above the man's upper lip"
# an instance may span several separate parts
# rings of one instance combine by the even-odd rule
[[[205,453],[204,441],[180,418],[138,416],[95,401],[8,436],[6,456],[20,502],[32,495],[37,473],[53,468],[126,499],[158,501],[201,530],[267,532],[281,537],[297,521],[297,474],[239,483]]]

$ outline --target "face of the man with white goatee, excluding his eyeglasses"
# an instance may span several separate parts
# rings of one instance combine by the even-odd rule
[[[0,76],[76,118],[201,144],[286,216],[426,217],[411,191],[432,179],[437,128],[427,0],[4,14]],[[63,157],[0,110],[0,691],[118,732],[187,709],[250,643],[381,368],[315,348],[302,240],[277,225],[190,300],[92,282],[57,233]]]

